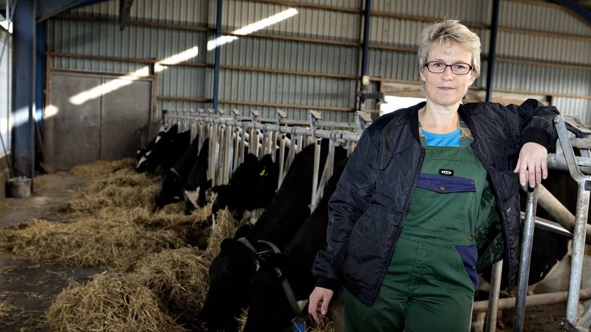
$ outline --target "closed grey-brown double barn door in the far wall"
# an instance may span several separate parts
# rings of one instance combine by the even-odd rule
[[[115,86],[116,89],[111,89]],[[45,161],[58,170],[132,157],[148,141],[152,81],[53,72],[44,118]],[[90,97],[73,102],[80,93]]]

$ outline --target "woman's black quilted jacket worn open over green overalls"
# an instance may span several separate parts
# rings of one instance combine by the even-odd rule
[[[366,305],[374,303],[423,163],[417,110],[424,105],[381,116],[363,132],[329,201],[327,246],[317,253],[312,269],[317,286],[342,285]],[[518,174],[513,170],[523,144],[554,149],[558,110],[528,99],[520,106],[469,103],[460,105],[458,113],[472,131],[472,149],[496,195],[502,219],[496,256],[508,261],[512,288],[521,235]]]

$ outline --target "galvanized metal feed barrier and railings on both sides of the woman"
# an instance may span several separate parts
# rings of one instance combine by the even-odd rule
[[[277,188],[281,186],[285,173],[293,162],[294,155],[306,145],[314,144],[314,172],[312,185],[312,200],[310,209],[314,210],[322,198],[324,185],[332,175],[334,167],[335,147],[348,149],[348,154],[355,148],[363,129],[371,124],[371,117],[365,112],[356,112],[355,123],[322,121],[320,113],[309,110],[308,121],[287,119],[284,110],[277,110],[275,118],[261,118],[259,112],[251,110],[249,116],[241,116],[238,110],[232,110],[226,115],[220,109],[215,115],[213,110],[168,110],[164,115],[165,125],[178,124],[179,131],[191,131],[191,139],[199,135],[199,148],[209,138],[209,169],[207,178],[212,185],[226,184],[230,175],[248,152],[261,158],[271,154],[275,161],[275,150],[279,149],[279,168]],[[589,209],[589,194],[591,190],[591,131],[576,118],[558,115],[554,121],[558,132],[558,144],[555,154],[548,155],[548,168],[569,171],[571,177],[579,185],[577,192],[576,214],[570,213],[554,196],[541,184],[533,190],[526,187],[527,208],[522,213],[524,219],[524,234],[521,243],[521,257],[519,259],[518,294],[515,299],[499,300],[501,285],[502,261],[493,265],[491,275],[491,291],[488,301],[474,302],[475,313],[486,311],[486,331],[492,332],[496,328],[498,309],[515,308],[514,331],[522,331],[526,305],[550,304],[567,302],[566,316],[561,322],[565,331],[582,332],[591,326],[591,305],[577,318],[580,300],[591,298],[591,289],[580,289],[582,278],[582,264],[585,243],[591,243],[591,225],[587,224]],[[569,133],[570,132],[570,133]],[[202,135],[203,134],[203,135]],[[290,139],[287,138],[290,134]],[[571,137],[573,136],[574,137]],[[329,154],[320,174],[320,139],[330,139]],[[285,148],[289,148],[285,158]],[[573,147],[579,148],[581,157],[576,157]],[[284,162],[285,159],[285,162]],[[319,183],[320,177],[320,183]],[[548,211],[556,222],[535,217],[537,204]],[[530,259],[534,227],[548,230],[563,236],[571,237],[572,259],[568,292],[555,292],[527,296],[527,281],[530,270]],[[587,232],[587,229],[590,232]]]

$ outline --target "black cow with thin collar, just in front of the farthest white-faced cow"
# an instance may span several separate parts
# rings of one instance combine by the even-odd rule
[[[156,197],[156,209],[162,209],[165,205],[174,203],[183,197],[183,187],[187,184],[191,169],[197,162],[199,150],[199,135],[193,139],[193,143],[178,158],[173,167],[165,170],[160,181],[160,193]]]

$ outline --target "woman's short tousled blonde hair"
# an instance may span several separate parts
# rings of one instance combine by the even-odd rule
[[[457,43],[472,53],[472,70],[476,77],[480,75],[480,37],[470,31],[457,19],[446,19],[431,24],[421,33],[421,45],[418,47],[418,66],[422,69],[427,62],[427,55],[433,45],[439,43]]]

